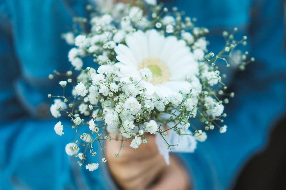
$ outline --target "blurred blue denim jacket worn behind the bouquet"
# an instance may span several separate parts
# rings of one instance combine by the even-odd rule
[[[69,31],[73,16],[87,14],[86,3],[0,0],[0,189],[116,188],[106,164],[94,172],[80,168],[64,152],[66,143],[74,141],[71,132],[59,137],[53,130],[57,120],[41,119],[49,114],[44,112],[51,104],[47,94],[61,89],[47,76],[70,67],[70,47],[60,34]],[[224,45],[221,32],[237,26],[239,35],[248,36],[249,54],[256,58],[244,72],[225,71],[235,92],[225,108],[227,132],[209,132],[195,153],[178,154],[195,189],[231,188],[245,162],[267,143],[271,126],[285,115],[283,3],[176,0],[167,6],[184,10],[198,19],[198,26],[209,28],[208,49],[214,52]]]

